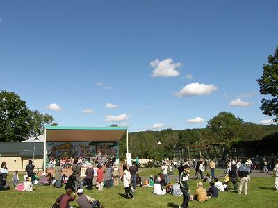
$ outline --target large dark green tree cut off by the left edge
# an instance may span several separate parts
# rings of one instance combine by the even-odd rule
[[[31,110],[14,92],[0,92],[0,141],[23,141],[31,130]]]

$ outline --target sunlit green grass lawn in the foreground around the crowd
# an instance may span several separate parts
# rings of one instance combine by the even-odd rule
[[[153,175],[159,168],[146,168],[146,176]],[[145,175],[142,172],[142,175]],[[190,194],[196,189],[196,184],[201,180],[190,180]],[[251,178],[248,195],[238,195],[233,191],[220,193],[216,199],[208,199],[207,202],[190,201],[190,207],[277,207],[278,192],[273,189],[273,178]],[[230,186],[232,186],[230,184]],[[205,184],[204,188],[208,188]],[[65,192],[65,188],[56,189],[54,187],[36,186],[33,192],[1,191],[0,207],[51,207],[56,198]],[[150,187],[136,187],[135,200],[125,199],[122,183],[119,187],[111,189],[104,188],[104,191],[85,190],[85,193],[98,199],[106,207],[178,207],[183,197],[154,196]],[[76,202],[71,203],[77,207]]]

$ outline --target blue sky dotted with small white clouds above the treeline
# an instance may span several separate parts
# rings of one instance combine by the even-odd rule
[[[277,8],[278,1],[1,1],[0,90],[59,125],[204,128],[222,111],[268,123],[256,79],[278,45]]]

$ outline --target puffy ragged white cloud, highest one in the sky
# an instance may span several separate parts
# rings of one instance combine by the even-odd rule
[[[180,62],[174,63],[172,58],[166,58],[161,62],[159,61],[158,58],[156,58],[156,60],[150,62],[149,64],[151,65],[151,67],[154,68],[154,71],[152,71],[153,77],[179,76],[179,71],[177,71],[176,69],[182,66]]]

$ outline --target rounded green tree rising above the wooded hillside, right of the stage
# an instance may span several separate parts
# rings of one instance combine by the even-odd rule
[[[236,118],[234,114],[220,112],[208,121],[206,127],[211,129],[212,135],[216,137],[216,141],[231,146],[235,142],[240,141],[242,124],[243,120]]]

